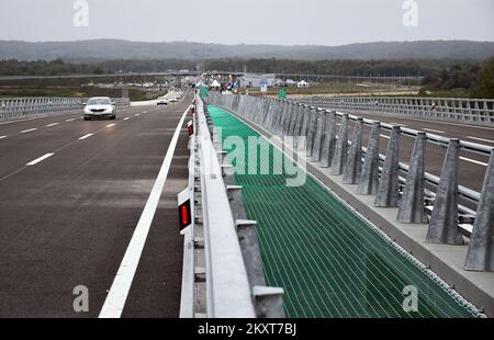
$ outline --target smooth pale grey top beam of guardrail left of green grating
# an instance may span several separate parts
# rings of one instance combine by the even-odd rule
[[[235,222],[200,97],[197,97],[197,107],[207,316],[254,318],[255,308]]]

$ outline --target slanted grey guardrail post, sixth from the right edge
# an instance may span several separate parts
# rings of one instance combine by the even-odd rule
[[[347,163],[344,169],[343,183],[356,184],[362,169],[362,128],[363,118],[358,117],[355,122],[353,137],[348,151]]]

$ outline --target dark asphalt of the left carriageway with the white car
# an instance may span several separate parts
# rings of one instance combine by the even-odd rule
[[[70,113],[0,124],[0,317],[100,314],[191,101],[119,107],[115,121]],[[179,315],[183,126],[123,317]],[[89,311],[72,307],[79,285],[88,287]]]

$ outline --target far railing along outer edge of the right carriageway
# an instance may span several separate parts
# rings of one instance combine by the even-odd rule
[[[295,98],[312,106],[352,112],[426,117],[494,126],[494,100],[460,98],[337,97]]]

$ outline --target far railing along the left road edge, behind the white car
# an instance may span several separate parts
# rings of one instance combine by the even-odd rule
[[[35,115],[47,115],[78,110],[85,98],[5,98],[0,99],[0,122],[20,120]],[[117,106],[130,104],[128,98],[112,99]]]

